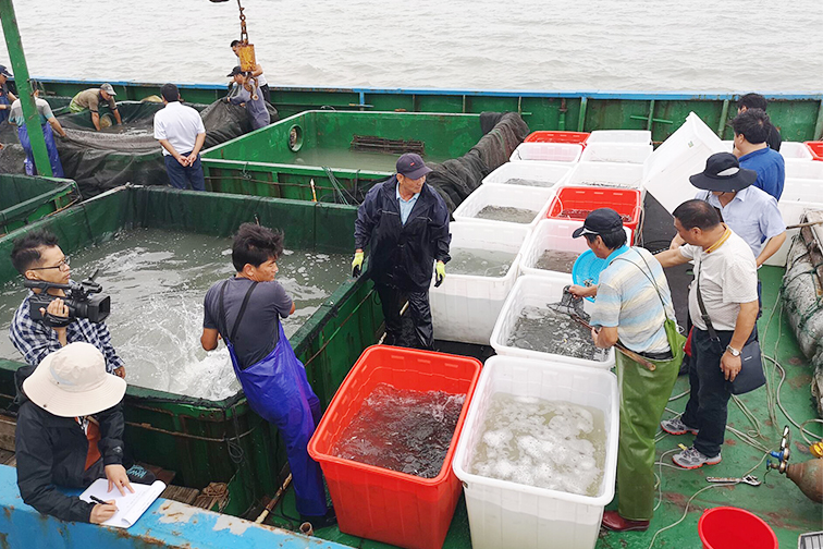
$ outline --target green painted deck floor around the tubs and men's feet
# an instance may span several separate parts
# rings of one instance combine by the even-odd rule
[[[763,282],[763,316],[758,322],[763,352],[774,356],[786,368],[786,381],[781,391],[781,401],[791,417],[802,423],[806,419],[816,417],[816,412],[811,400],[809,390],[811,381],[811,366],[797,346],[795,337],[785,318],[781,315],[778,292],[782,283],[783,269],[763,267],[760,278]],[[776,352],[775,352],[776,351]],[[766,362],[766,374],[770,377],[770,389],[776,389],[779,374],[772,363]],[[774,381],[773,381],[774,380]],[[678,395],[689,388],[688,378],[681,376],[677,380],[673,395]],[[673,401],[670,408],[681,412],[686,406],[687,395]],[[763,438],[760,443],[770,450],[776,450],[783,432],[783,426],[788,424],[786,417],[777,411],[777,425],[769,419],[766,404],[766,390],[759,389],[746,394],[740,399],[752,412],[760,423]],[[671,414],[667,414],[667,416]],[[734,402],[729,402],[728,426],[742,432],[750,432],[757,426],[750,422]],[[809,427],[813,432],[820,434],[820,425]],[[661,435],[662,436],[662,435]],[[757,435],[756,435],[757,436]],[[642,533],[602,533],[597,544],[598,549],[640,549],[649,548],[654,534],[677,522],[683,515],[687,501],[700,489],[709,484],[707,476],[732,476],[738,477],[750,469],[761,480],[764,479],[765,461],[759,464],[764,453],[746,444],[730,431],[726,431],[726,443],[723,447],[723,462],[711,467],[696,471],[673,468],[671,456],[672,450],[677,449],[678,443],[689,446],[692,437],[665,436],[658,443],[658,455],[663,465],[655,466],[658,474],[662,471],[662,498],[660,508],[654,514],[651,527]],[[793,462],[806,461],[811,457],[808,448],[802,441],[799,429],[793,427]],[[619,486],[617,487],[619,496]],[[777,534],[781,547],[797,547],[800,534],[819,532],[823,529],[823,507],[813,503],[803,496],[800,490],[786,477],[771,472],[765,476],[765,483],[759,487],[738,485],[734,487],[715,487],[698,495],[689,505],[688,513],[678,525],[666,529],[658,535],[653,547],[664,548],[698,548],[701,547],[698,536],[698,520],[707,509],[732,505],[747,509],[763,518]],[[606,509],[615,509],[616,500]],[[272,513],[271,523],[278,526],[296,529],[299,526],[297,512],[294,507],[294,492],[288,490],[281,503]],[[292,517],[290,520],[290,517]],[[337,528],[324,528],[315,534],[317,537],[337,541],[361,549],[390,548],[385,544],[361,539],[342,534]],[[465,549],[471,547],[469,535],[468,515],[463,499],[457,504],[452,527],[443,545],[446,549]]]

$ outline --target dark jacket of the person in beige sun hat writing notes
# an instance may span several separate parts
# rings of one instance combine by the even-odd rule
[[[32,371],[34,366],[24,366],[14,376],[20,402],[15,431],[20,495],[42,514],[61,521],[89,522],[95,504],[65,496],[54,486],[87,488],[106,476],[106,465],[123,463],[122,403],[95,414],[100,424],[98,448],[102,460],[84,471],[88,439],[83,428],[74,417],[49,414],[28,400],[22,386]]]

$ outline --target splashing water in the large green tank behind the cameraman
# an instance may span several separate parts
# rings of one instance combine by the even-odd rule
[[[106,324],[130,385],[209,400],[239,390],[225,345],[209,353],[200,346],[206,291],[235,273],[231,245],[226,237],[135,229],[72,256],[75,281],[100,269],[97,282],[111,296]],[[286,337],[347,279],[348,260],[344,254],[284,251],[277,280],[297,306],[283,321]],[[4,358],[23,361],[7,334],[26,292],[17,280],[0,292]]]

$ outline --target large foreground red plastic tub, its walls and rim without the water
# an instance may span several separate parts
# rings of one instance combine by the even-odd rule
[[[480,368],[479,361],[466,356],[388,345],[364,351],[308,444],[309,455],[325,475],[341,532],[408,549],[443,546],[462,489],[452,471],[452,459]],[[466,394],[452,444],[437,477],[421,478],[331,454],[363,401],[379,383]]]

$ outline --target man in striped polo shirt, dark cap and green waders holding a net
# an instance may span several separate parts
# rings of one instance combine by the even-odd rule
[[[576,297],[595,297],[591,310],[594,344],[617,341],[652,362],[649,371],[623,353],[615,353],[621,383],[621,436],[617,453],[616,511],[603,513],[603,527],[644,530],[654,513],[654,436],[672,395],[686,338],[675,321],[672,293],[663,268],[646,249],[626,245],[619,213],[600,208],[589,213],[573,236],[586,237],[594,255],[607,265],[593,286],[573,285]]]

